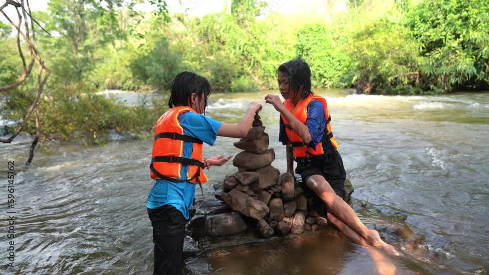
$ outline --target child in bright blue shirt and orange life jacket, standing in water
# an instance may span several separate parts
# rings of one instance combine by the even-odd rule
[[[196,184],[205,183],[203,169],[221,166],[232,156],[203,158],[202,143],[217,136],[243,138],[262,106],[249,104],[243,119],[226,124],[203,115],[211,93],[209,82],[191,72],[179,73],[172,83],[170,110],[156,123],[150,176],[155,179],[146,207],[153,226],[154,274],[180,272],[185,222]]]

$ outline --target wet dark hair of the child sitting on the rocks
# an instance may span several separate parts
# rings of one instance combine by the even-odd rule
[[[311,68],[303,59],[296,58],[283,63],[277,69],[277,77],[279,72],[289,77],[289,91],[290,88],[296,91],[303,88],[304,94],[302,98],[313,94],[311,89]]]

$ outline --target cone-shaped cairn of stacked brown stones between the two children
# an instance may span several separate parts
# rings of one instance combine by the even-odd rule
[[[256,115],[248,135],[234,143],[243,150],[233,159],[238,172],[227,175],[222,190],[216,191],[216,198],[231,208],[232,213],[226,214],[224,224],[212,226],[212,221],[207,222],[211,236],[243,232],[247,229],[245,224],[256,227],[264,237],[316,231],[319,225],[327,224],[326,219],[312,212],[309,216],[308,199],[302,188],[295,187],[292,175],[280,174],[271,166],[275,152],[268,148],[268,142],[265,127]],[[234,226],[232,231],[227,229],[230,223]],[[221,234],[213,233],[213,227],[218,227]]]

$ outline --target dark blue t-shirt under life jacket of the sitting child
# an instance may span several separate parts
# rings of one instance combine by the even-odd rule
[[[307,107],[307,120],[306,126],[311,133],[311,143],[310,147],[315,147],[321,142],[324,134],[324,128],[326,127],[326,120],[324,120],[324,109],[321,102],[317,100],[312,100],[311,103]],[[283,145],[287,144],[289,138],[285,132],[285,124],[282,120],[282,116],[280,116],[280,132],[278,135],[278,141],[282,142]],[[323,142],[324,153],[329,152],[329,147],[327,141]]]

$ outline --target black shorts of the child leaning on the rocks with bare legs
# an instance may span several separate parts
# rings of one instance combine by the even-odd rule
[[[310,207],[311,211],[317,211],[320,214],[325,212],[322,200],[306,185],[308,178],[312,175],[323,176],[331,185],[331,188],[333,188],[336,195],[345,199],[344,186],[346,171],[343,166],[341,155],[337,150],[322,156],[296,159],[296,161],[297,168],[295,169],[295,172],[302,177],[302,187],[306,191],[306,194],[313,197],[313,205]]]

